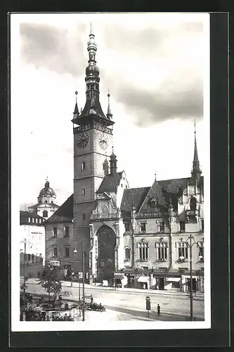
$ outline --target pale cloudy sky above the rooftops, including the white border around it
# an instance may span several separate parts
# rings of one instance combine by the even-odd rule
[[[62,204],[73,193],[75,91],[85,104],[89,25],[98,46],[100,103],[114,125],[114,151],[129,187],[189,177],[194,120],[207,165],[207,14],[11,15],[11,128],[18,136],[20,207],[37,203],[46,177]],[[207,70],[208,68],[208,70]],[[207,95],[205,95],[207,96]],[[204,113],[205,112],[205,113]],[[204,172],[203,172],[204,174]]]

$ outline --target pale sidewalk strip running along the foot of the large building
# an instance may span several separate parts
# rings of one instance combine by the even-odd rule
[[[22,278],[20,277],[20,281]],[[39,279],[28,279],[26,284],[38,284]],[[62,281],[62,287],[69,287],[71,288],[71,282],[70,281]],[[78,282],[72,282],[72,287],[79,287]],[[82,287],[82,283],[81,283]],[[102,291],[115,291],[113,287],[103,287],[102,284],[84,284],[85,289],[98,289]],[[167,290],[156,290],[156,289],[130,289],[126,287],[118,288],[116,289],[118,292],[124,292],[124,293],[138,293],[138,294],[160,294],[160,295],[170,295],[170,296],[188,296],[186,292],[178,292],[178,291],[167,291]],[[199,297],[201,299],[204,299],[204,293],[197,292],[195,297]]]

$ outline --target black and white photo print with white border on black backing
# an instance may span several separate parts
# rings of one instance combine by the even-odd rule
[[[209,329],[209,14],[11,14],[11,329]]]

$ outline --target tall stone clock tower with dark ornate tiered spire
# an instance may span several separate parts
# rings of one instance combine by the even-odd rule
[[[74,108],[74,223],[73,245],[78,261],[82,257],[83,242],[89,250],[89,219],[96,208],[96,191],[105,177],[105,159],[112,153],[112,113],[110,101],[105,115],[99,101],[99,69],[96,65],[97,46],[92,28],[89,34],[89,61],[86,67],[86,103],[79,112]],[[76,92],[77,96],[77,92]],[[108,94],[108,100],[110,94]],[[84,241],[83,241],[84,239]],[[81,248],[82,247],[82,248]],[[72,256],[72,253],[71,253]],[[89,265],[87,260],[86,265]],[[87,271],[87,270],[86,270]]]

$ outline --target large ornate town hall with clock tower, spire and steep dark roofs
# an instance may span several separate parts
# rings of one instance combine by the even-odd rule
[[[91,30],[86,103],[79,111],[76,100],[72,119],[74,194],[44,222],[46,260],[59,261],[65,277],[80,276],[84,252],[89,283],[178,291],[193,284],[203,291],[204,187],[196,130],[188,177],[155,177],[149,187],[129,188],[125,171],[117,170],[110,94],[106,114],[100,106],[96,51]]]

